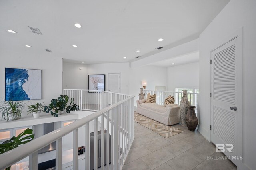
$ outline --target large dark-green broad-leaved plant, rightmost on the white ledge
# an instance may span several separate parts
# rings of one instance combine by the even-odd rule
[[[67,95],[60,95],[58,99],[52,99],[49,106],[44,107],[44,111],[46,113],[51,113],[54,117],[58,117],[61,112],[66,111],[66,113],[70,113],[70,111],[77,111],[79,106],[74,103],[74,99]]]

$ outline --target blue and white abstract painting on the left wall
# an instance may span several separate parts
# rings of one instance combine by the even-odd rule
[[[42,99],[42,70],[5,68],[5,100]]]

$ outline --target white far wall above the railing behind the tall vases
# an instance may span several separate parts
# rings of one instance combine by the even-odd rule
[[[167,91],[175,88],[199,89],[199,62],[167,68]]]

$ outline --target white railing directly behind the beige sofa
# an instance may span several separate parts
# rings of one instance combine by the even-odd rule
[[[164,105],[164,99],[168,97],[169,95],[174,96],[175,103],[180,105],[180,101],[182,99],[183,93],[182,92],[173,92],[173,91],[154,91],[154,90],[144,90],[145,93],[145,99],[150,93],[150,95],[156,94],[156,103],[158,105]],[[188,101],[190,102],[190,105],[198,106],[198,94],[199,93],[187,93]]]

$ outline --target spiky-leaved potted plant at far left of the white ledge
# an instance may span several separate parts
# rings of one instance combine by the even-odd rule
[[[20,119],[24,103],[21,101],[2,101],[0,112],[2,112],[2,119],[8,121]]]

